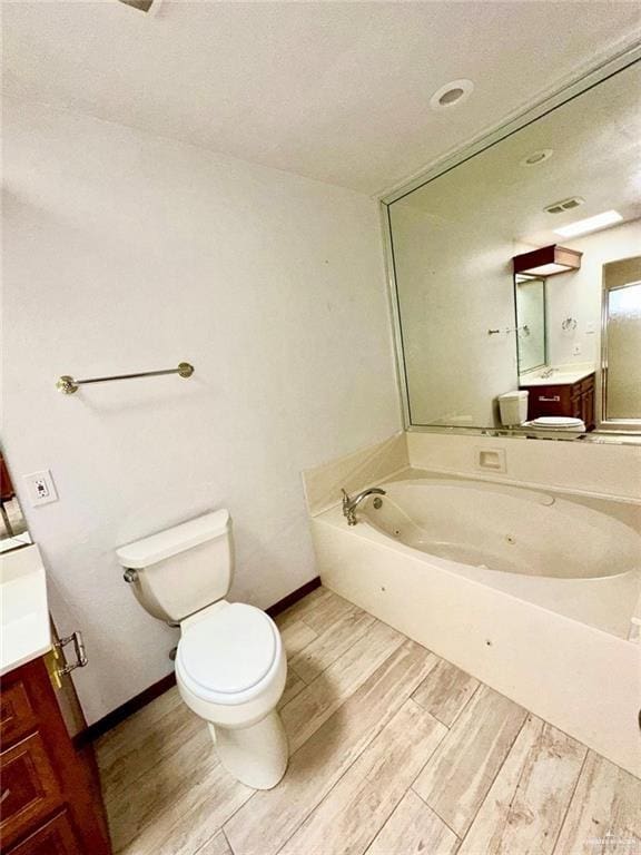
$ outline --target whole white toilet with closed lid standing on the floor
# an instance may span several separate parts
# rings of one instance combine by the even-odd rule
[[[276,711],[287,660],[268,615],[225,599],[234,569],[228,511],[166,529],[116,554],[142,608],[180,627],[178,690],[208,723],[221,764],[249,787],[276,786],[288,757]]]

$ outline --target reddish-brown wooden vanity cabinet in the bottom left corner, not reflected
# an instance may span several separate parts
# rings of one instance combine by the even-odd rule
[[[2,855],[111,853],[92,749],[73,747],[57,699],[57,690],[73,692],[62,680],[55,690],[45,657],[2,677]]]

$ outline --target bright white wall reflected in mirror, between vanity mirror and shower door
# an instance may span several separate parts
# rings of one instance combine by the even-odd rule
[[[566,365],[601,362],[601,289],[603,265],[638,255],[641,246],[641,220],[624,223],[594,235],[561,240],[583,253],[581,269],[551,276],[546,284],[548,363]],[[565,331],[566,317],[576,328]],[[574,353],[578,346],[580,353]]]

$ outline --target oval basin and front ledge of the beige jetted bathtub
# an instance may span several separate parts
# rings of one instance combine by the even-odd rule
[[[628,638],[641,538],[603,510],[552,492],[475,481],[396,481],[359,520],[450,569]],[[604,510],[608,503],[601,502]]]

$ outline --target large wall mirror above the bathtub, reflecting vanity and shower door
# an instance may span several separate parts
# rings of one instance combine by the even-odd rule
[[[637,61],[387,200],[410,426],[641,433],[640,194]]]

